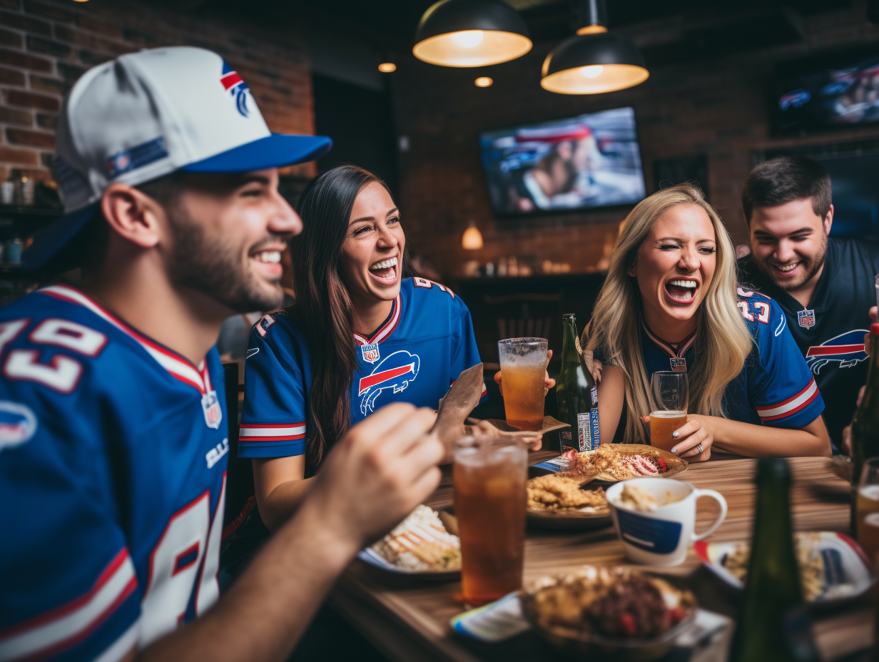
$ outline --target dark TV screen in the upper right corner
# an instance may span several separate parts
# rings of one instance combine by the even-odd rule
[[[775,77],[774,118],[781,134],[879,121],[879,48],[786,65]]]

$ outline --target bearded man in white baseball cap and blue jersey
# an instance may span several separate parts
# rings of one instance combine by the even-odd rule
[[[218,601],[236,413],[214,340],[280,304],[301,221],[277,169],[330,146],[272,134],[200,48],[122,55],[70,91],[66,213],[24,259],[80,266],[83,287],[0,309],[0,660],[283,659],[358,549],[439,484],[432,411],[376,412]]]

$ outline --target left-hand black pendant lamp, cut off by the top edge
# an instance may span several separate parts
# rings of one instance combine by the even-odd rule
[[[439,0],[418,21],[412,54],[442,67],[483,67],[531,50],[519,13],[501,0]]]

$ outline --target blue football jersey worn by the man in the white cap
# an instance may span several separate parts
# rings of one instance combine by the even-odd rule
[[[199,367],[73,287],[0,310],[0,660],[113,660],[219,595],[228,427]]]

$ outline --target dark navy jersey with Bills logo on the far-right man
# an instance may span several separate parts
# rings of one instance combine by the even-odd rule
[[[788,328],[825,399],[825,422],[834,445],[852,422],[858,389],[867,383],[864,334],[868,310],[876,305],[879,242],[827,240],[824,270],[809,305],[803,306],[759,270],[751,256],[738,261],[739,280],[771,296],[788,318]]]

